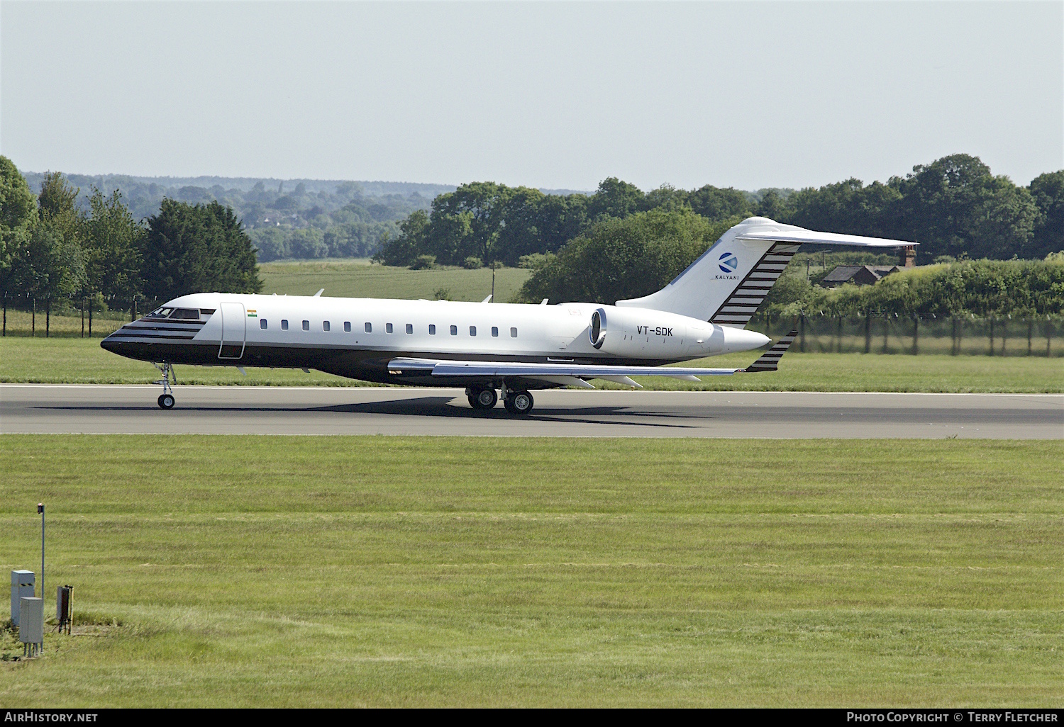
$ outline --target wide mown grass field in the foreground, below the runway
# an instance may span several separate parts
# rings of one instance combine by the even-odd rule
[[[1059,706],[1060,442],[0,438],[61,706]],[[5,655],[21,654],[10,633]]]

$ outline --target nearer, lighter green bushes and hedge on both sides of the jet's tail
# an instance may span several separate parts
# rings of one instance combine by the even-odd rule
[[[710,222],[691,209],[639,212],[605,219],[544,258],[516,301],[538,303],[638,298],[660,290],[737,221]],[[831,266],[808,276],[810,258],[799,253],[772,287],[759,317],[822,311],[832,316],[890,311],[943,317],[1044,316],[1064,310],[1064,253],[1042,260],[951,260],[905,269],[871,286],[821,288],[824,273],[839,263],[896,263],[896,257],[860,260],[867,253],[831,253]],[[826,256],[827,257],[827,256]]]

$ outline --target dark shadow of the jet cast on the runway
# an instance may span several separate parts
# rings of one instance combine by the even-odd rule
[[[254,412],[254,413],[362,413],[385,415],[393,417],[435,417],[449,419],[476,419],[494,421],[530,421],[559,422],[573,424],[606,424],[614,426],[662,426],[671,428],[698,428],[694,424],[679,422],[646,421],[647,419],[689,420],[689,413],[669,413],[665,411],[645,411],[625,406],[592,406],[579,407],[537,407],[531,415],[515,419],[502,406],[487,411],[478,411],[462,405],[451,405],[454,396],[414,396],[361,404],[329,404],[325,406],[182,406],[179,404],[172,411],[162,411],[154,406],[98,405],[98,406],[36,406],[35,409],[60,411],[159,411],[160,416],[180,415],[183,411],[196,412]],[[631,418],[639,421],[631,421]],[[609,418],[609,419],[604,419]],[[613,419],[615,418],[615,419]],[[699,416],[698,419],[715,419],[715,417]]]

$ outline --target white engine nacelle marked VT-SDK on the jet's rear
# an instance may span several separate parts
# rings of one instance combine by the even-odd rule
[[[768,342],[754,331],[714,325],[649,308],[603,306],[592,312],[591,344],[603,353],[636,358],[683,358],[751,351]]]

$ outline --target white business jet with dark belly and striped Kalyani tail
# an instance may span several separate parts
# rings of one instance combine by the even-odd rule
[[[499,400],[527,415],[535,389],[637,387],[631,376],[775,371],[794,333],[745,369],[663,366],[769,342],[746,331],[802,243],[914,244],[821,233],[751,217],[726,232],[658,292],[634,300],[547,305],[368,298],[195,293],[169,301],[100,343],[151,361],[163,374],[159,406],[173,407],[174,364],[294,368],[368,382],[464,387],[475,409]],[[173,377],[177,383],[176,377]]]

